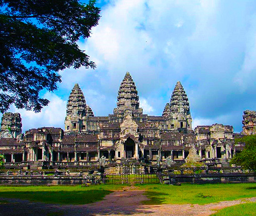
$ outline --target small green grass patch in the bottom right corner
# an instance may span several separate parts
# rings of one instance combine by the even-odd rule
[[[211,216],[256,216],[256,203],[245,203],[224,208]]]

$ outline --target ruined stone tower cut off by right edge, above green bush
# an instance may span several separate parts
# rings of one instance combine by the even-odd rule
[[[244,135],[256,134],[256,111],[244,111],[242,123]]]

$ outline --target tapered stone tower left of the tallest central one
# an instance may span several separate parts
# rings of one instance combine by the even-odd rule
[[[78,84],[72,89],[66,104],[65,131],[86,130],[86,101]]]

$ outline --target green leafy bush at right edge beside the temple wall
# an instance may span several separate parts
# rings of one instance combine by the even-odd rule
[[[256,135],[244,136],[236,139],[235,142],[244,142],[245,148],[241,153],[236,154],[230,163],[256,171]]]

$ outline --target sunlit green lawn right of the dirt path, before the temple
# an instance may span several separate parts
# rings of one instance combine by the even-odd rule
[[[256,197],[256,184],[141,185],[150,199],[147,205],[208,204],[225,200]]]

